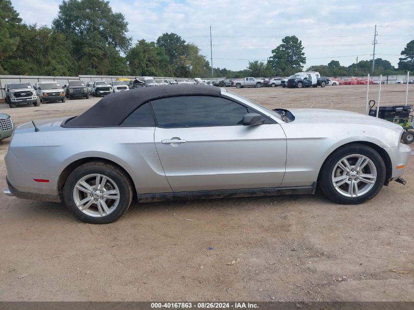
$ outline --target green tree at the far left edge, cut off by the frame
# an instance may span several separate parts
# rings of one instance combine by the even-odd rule
[[[7,73],[3,69],[3,60],[11,55],[19,44],[18,28],[22,23],[19,13],[13,8],[10,0],[0,0],[0,73]]]

